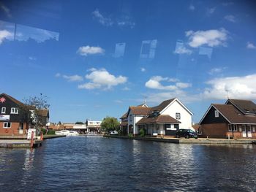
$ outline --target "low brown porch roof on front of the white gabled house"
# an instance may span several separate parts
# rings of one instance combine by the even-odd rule
[[[159,115],[157,117],[144,117],[138,121],[137,124],[146,124],[146,123],[181,123],[175,118],[170,117],[170,115]]]

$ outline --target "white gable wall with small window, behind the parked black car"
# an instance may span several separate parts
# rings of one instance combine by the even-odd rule
[[[174,101],[173,104],[162,111],[161,114],[170,115],[172,118],[176,119],[176,112],[181,114],[181,119],[177,119],[181,122],[179,123],[179,128],[192,128],[192,115],[187,110],[185,110],[178,101]]]

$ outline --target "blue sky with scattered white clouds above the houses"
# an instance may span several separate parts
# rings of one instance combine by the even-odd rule
[[[256,101],[253,1],[2,1],[0,93],[48,96],[50,121],[120,118],[178,98]]]

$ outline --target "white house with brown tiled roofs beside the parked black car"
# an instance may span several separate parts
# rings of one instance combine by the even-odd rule
[[[175,136],[179,128],[192,128],[192,115],[192,112],[177,98],[162,101],[156,107],[148,107],[146,104],[129,107],[125,116],[127,134],[138,135],[140,129],[143,129],[151,136]]]

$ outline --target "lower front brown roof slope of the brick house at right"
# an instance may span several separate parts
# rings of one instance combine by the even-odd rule
[[[230,123],[256,123],[256,115],[244,115],[231,104],[212,104]]]

